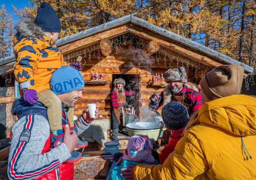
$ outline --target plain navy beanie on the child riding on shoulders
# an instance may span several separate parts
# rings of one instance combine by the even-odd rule
[[[35,24],[45,32],[61,32],[61,21],[57,17],[55,10],[46,2],[43,2],[38,8]]]

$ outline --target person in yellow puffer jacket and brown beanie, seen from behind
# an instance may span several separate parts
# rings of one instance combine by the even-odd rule
[[[122,169],[127,179],[256,179],[256,98],[239,95],[243,68],[221,65],[200,81],[203,106],[162,165]]]

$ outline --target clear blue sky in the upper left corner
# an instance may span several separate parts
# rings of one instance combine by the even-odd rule
[[[30,0],[0,0],[0,5],[4,4],[6,12],[13,15],[13,21],[15,22],[19,20],[19,17],[15,15],[12,4],[18,9],[23,9],[25,6],[29,7],[29,2]]]

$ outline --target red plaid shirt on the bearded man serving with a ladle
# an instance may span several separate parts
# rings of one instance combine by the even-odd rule
[[[163,105],[163,91],[160,94],[161,101],[159,102],[159,106],[156,108],[158,109]],[[202,107],[202,97],[198,91],[188,88],[186,85],[183,86],[181,92],[179,94],[175,94],[175,96],[186,96],[187,103],[189,106],[189,111],[191,114]]]

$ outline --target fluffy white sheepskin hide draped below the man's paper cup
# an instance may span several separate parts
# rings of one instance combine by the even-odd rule
[[[110,128],[108,119],[94,120],[91,125],[82,134],[79,135],[83,141],[94,142],[96,141],[104,147],[107,142],[108,133]]]

